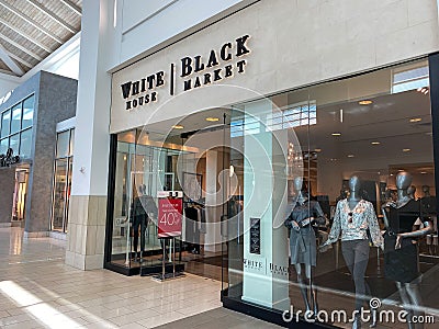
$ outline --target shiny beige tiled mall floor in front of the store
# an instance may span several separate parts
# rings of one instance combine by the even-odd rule
[[[222,308],[219,281],[80,271],[64,257],[65,241],[0,228],[0,328],[278,328]]]

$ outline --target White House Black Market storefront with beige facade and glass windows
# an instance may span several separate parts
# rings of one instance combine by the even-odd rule
[[[180,250],[222,256],[225,307],[283,326],[346,327],[360,307],[438,316],[437,48],[410,48],[410,25],[397,44],[383,30],[353,43],[344,29],[360,19],[317,35],[294,10],[257,2],[114,70],[105,266],[153,266],[158,192],[182,191],[205,215],[184,216]],[[153,220],[132,231],[138,191]],[[403,198],[418,213],[395,227]],[[358,231],[341,242],[344,218]],[[419,232],[396,264],[417,269],[409,282],[389,274],[390,228]]]

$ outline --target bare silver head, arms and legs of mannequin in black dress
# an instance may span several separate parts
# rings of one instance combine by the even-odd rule
[[[390,220],[387,217],[387,211],[386,208],[389,207],[394,207],[396,209],[399,209],[404,207],[405,205],[410,202],[410,196],[407,194],[407,189],[412,184],[412,175],[408,172],[399,172],[396,175],[396,189],[397,189],[397,200],[396,202],[392,202],[389,204],[383,205],[383,219],[384,219],[384,225],[387,229],[391,229],[390,226]],[[427,235],[432,230],[432,225],[431,223],[427,219],[423,219],[424,223],[424,228],[416,229],[409,232],[397,232],[396,234],[396,242],[395,242],[395,250],[401,249],[403,239],[412,239],[412,238],[418,238]],[[398,282],[396,281],[396,286],[399,292],[401,299],[404,304],[404,308],[408,311],[407,315],[407,325],[408,328],[423,328],[423,324],[413,324],[410,321],[412,316],[416,315],[419,316],[423,314],[423,311],[419,311],[421,307],[421,298],[419,294],[419,288],[417,283],[412,283],[412,282]]]

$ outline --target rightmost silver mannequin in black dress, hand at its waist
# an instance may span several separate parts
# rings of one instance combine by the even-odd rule
[[[408,328],[415,328],[410,321],[412,316],[420,315],[421,299],[418,290],[418,250],[414,238],[419,238],[432,230],[432,225],[421,212],[419,201],[407,195],[407,189],[412,183],[408,172],[399,172],[396,175],[397,200],[383,205],[385,232],[384,274],[396,282],[401,299],[408,311]],[[424,228],[413,230],[416,220],[420,218]],[[413,309],[415,306],[416,309]],[[419,324],[420,325],[420,324]],[[421,328],[423,326],[418,327]]]

